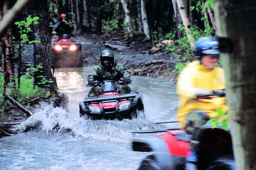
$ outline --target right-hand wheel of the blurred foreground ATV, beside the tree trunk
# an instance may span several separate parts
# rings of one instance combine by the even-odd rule
[[[214,160],[207,170],[235,170],[235,160],[232,157],[225,156]]]

